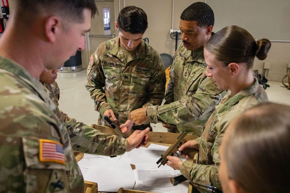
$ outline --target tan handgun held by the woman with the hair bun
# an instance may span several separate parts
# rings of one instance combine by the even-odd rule
[[[177,137],[174,144],[169,146],[169,148],[161,155],[161,158],[156,163],[159,164],[161,162],[161,164],[164,166],[165,163],[168,161],[168,159],[166,158],[168,155],[174,156],[175,154],[177,154],[177,156],[179,157],[181,153],[184,153],[189,157],[193,158],[194,155],[198,153],[198,151],[194,148],[185,148],[182,152],[180,152],[180,154],[177,153],[177,151],[179,151],[178,148],[180,148],[180,146],[186,142],[186,140],[183,139],[186,135],[187,132],[183,130],[182,133]],[[158,168],[161,166],[161,164],[158,166]]]

